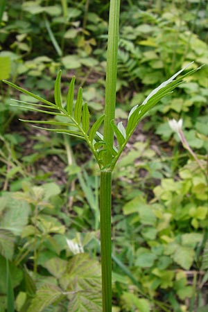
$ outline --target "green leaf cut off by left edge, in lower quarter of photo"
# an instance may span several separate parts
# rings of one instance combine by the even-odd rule
[[[1,223],[0,223],[1,225]],[[11,260],[15,248],[15,235],[8,229],[0,228],[0,254]]]

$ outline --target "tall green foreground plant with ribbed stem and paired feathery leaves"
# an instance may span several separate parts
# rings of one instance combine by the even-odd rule
[[[89,149],[92,151],[96,162],[101,172],[100,184],[100,211],[101,211],[101,267],[102,267],[102,290],[103,290],[103,312],[112,311],[112,247],[111,247],[111,185],[112,185],[112,171],[116,166],[123,149],[139,121],[144,115],[164,96],[173,92],[173,89],[183,83],[184,78],[193,74],[198,69],[182,72],[191,64],[175,73],[171,78],[159,85],[151,92],[146,100],[141,105],[136,105],[128,115],[126,127],[122,122],[115,123],[115,103],[116,103],[116,73],[117,73],[117,51],[119,42],[119,13],[120,0],[110,1],[110,17],[109,30],[107,42],[107,69],[106,69],[106,85],[105,85],[105,110],[104,113],[95,121],[90,122],[89,107],[83,101],[82,88],[78,90],[76,101],[74,101],[74,84],[75,77],[71,79],[69,84],[69,91],[67,94],[67,103],[62,103],[61,94],[61,71],[55,80],[54,87],[54,103],[46,99],[28,92],[17,85],[3,80],[10,87],[14,87],[19,92],[22,92],[39,101],[36,103],[27,103],[17,101],[16,106],[26,108],[35,112],[50,114],[53,116],[65,117],[65,121],[39,121],[39,120],[25,120],[28,123],[37,123],[43,125],[50,125],[52,128],[44,128],[52,132],[64,133],[78,137],[87,142]],[[180,76],[178,78],[178,76]],[[21,103],[21,105],[19,105]],[[42,128],[35,125],[37,128]],[[103,128],[103,133],[101,133]],[[114,145],[114,141],[117,144]]]

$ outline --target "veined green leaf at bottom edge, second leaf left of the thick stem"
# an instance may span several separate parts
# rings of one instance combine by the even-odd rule
[[[45,284],[38,289],[27,312],[42,312],[47,306],[62,298],[64,295],[58,286]]]

